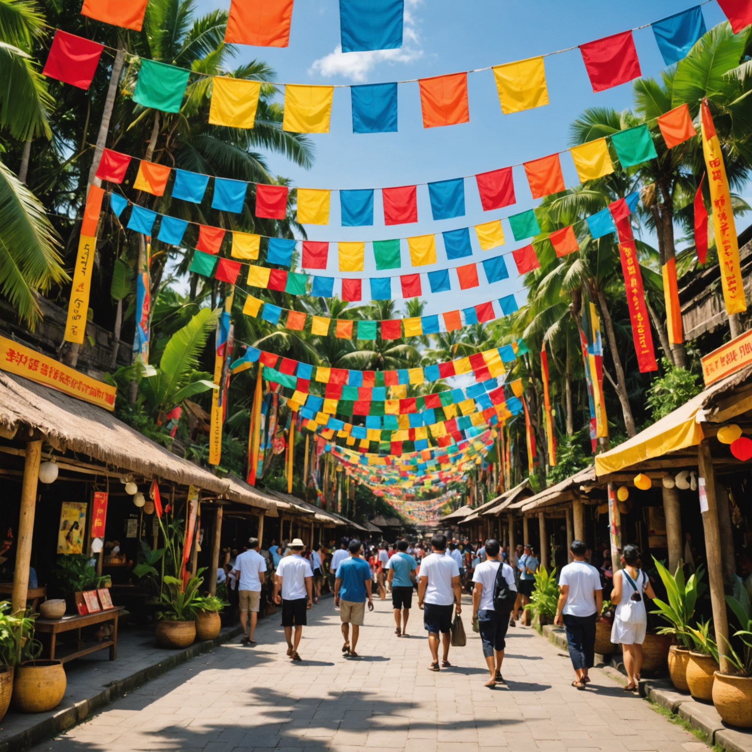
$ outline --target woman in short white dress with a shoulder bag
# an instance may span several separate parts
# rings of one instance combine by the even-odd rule
[[[645,596],[655,598],[647,575],[638,569],[640,552],[636,546],[625,546],[621,552],[624,569],[614,573],[611,605],[616,606],[611,642],[621,644],[627,681],[625,692],[637,689],[642,669],[642,643],[647,629]]]

